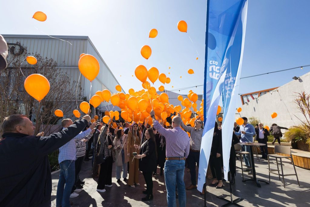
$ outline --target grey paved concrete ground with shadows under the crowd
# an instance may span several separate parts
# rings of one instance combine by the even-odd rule
[[[237,166],[240,166],[240,161],[237,160]],[[275,164],[271,166],[276,168]],[[293,173],[293,166],[290,161],[285,159],[283,162],[285,174]],[[257,177],[268,181],[268,161],[258,162],[255,159],[255,169]],[[157,169],[159,173],[159,169]],[[254,182],[242,182],[241,171],[237,169],[236,184],[233,185],[233,198],[242,197],[243,201],[239,202],[242,206],[292,206],[303,207],[310,206],[310,171],[297,167],[300,187],[297,184],[296,176],[288,176],[285,178],[286,188],[283,187],[282,182],[275,175],[271,176],[271,183],[261,183],[262,187],[259,188]],[[80,173],[81,179],[85,181],[84,188],[79,196],[70,199],[73,201],[73,206],[167,206],[166,201],[166,187],[164,176],[159,174],[153,176],[154,200],[150,202],[142,202],[141,198],[144,197],[142,191],[145,190],[145,182],[141,172],[139,172],[139,182],[141,186],[131,188],[122,181],[120,184],[116,182],[115,178],[115,165],[113,164],[113,187],[106,187],[107,191],[99,193],[96,191],[97,179],[91,177],[91,161],[85,161]],[[59,172],[52,174],[52,206],[56,203],[56,190],[58,183]],[[249,175],[245,175],[249,178]],[[127,177],[128,178],[128,177]],[[123,180],[123,179],[121,179]],[[281,179],[282,180],[282,179]],[[190,173],[184,173],[185,185],[190,185]],[[208,180],[210,183],[211,180]],[[229,183],[224,182],[223,189],[216,189],[215,187],[207,187],[207,206],[222,206],[225,201],[218,199],[216,196],[223,196],[230,199]],[[186,191],[187,205],[186,206],[204,206],[203,196],[194,189]],[[178,202],[178,201],[177,201]],[[179,204],[177,203],[177,206]]]

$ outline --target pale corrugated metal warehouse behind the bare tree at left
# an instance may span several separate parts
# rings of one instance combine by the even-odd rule
[[[78,81],[80,76],[80,70],[78,69],[80,54],[86,53],[95,56],[100,64],[100,72],[96,79],[92,81],[91,94],[94,95],[96,91],[102,91],[104,89],[108,89],[112,93],[117,92],[115,89],[115,86],[119,85],[117,79],[88,36],[53,36],[68,41],[72,45],[47,35],[3,34],[2,36],[9,46],[10,44],[14,45],[16,42],[20,42],[21,45],[27,47],[27,52],[29,53],[39,53],[43,57],[53,58],[61,70],[67,72],[71,79],[76,81]],[[89,98],[90,81],[81,75],[80,82],[83,89],[82,96]],[[101,104],[102,106],[104,106],[104,103]]]

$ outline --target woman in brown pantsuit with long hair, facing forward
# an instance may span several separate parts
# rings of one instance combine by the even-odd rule
[[[141,142],[141,135],[138,130],[138,124],[133,124],[132,130],[128,132],[128,144],[127,144],[127,155],[129,156],[129,179],[128,179],[128,185],[131,187],[135,187],[134,184],[139,184],[139,176],[138,176],[138,170],[139,170],[139,162],[138,160],[134,159],[133,152],[136,152],[137,154],[140,153],[139,150],[137,150],[134,145],[140,145]]]

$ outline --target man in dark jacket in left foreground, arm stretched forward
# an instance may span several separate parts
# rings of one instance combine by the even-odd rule
[[[34,136],[25,115],[2,122],[0,141],[0,206],[51,206],[51,168],[48,154],[78,135],[91,120],[85,115],[68,128],[48,137]]]

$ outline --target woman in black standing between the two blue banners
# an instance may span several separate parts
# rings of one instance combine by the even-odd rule
[[[221,156],[222,156],[222,131],[219,130],[218,125],[215,122],[209,164],[213,177],[213,182],[210,184],[210,186],[216,185],[216,188],[223,188]]]

